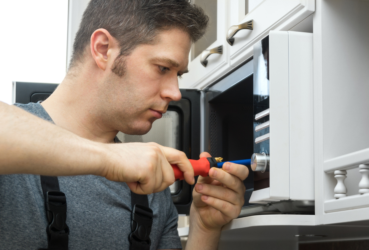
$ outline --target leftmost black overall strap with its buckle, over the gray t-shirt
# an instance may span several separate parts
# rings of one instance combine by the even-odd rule
[[[69,228],[66,224],[66,197],[59,189],[58,177],[41,176],[41,187],[45,198],[48,248],[39,250],[68,250]]]

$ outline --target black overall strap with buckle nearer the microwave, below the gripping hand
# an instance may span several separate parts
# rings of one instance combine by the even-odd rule
[[[149,208],[147,195],[135,194],[131,191],[131,230],[128,236],[130,250],[149,250],[149,238],[152,226],[153,213]]]

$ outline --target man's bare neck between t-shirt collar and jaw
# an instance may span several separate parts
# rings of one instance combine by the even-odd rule
[[[56,125],[96,142],[113,142],[118,131],[106,128],[94,96],[96,83],[82,76],[66,76],[55,92],[41,103]]]

